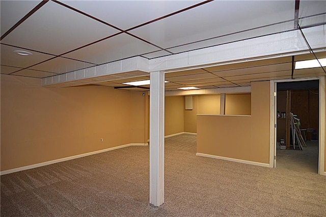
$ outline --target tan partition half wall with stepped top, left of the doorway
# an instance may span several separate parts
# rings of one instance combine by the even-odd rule
[[[197,152],[269,163],[269,82],[253,82],[251,116],[197,116]]]

